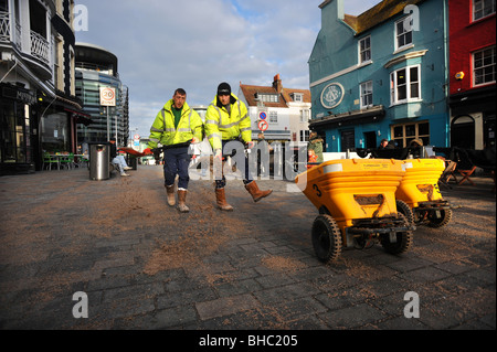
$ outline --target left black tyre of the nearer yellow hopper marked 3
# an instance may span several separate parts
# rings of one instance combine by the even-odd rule
[[[319,215],[313,224],[313,246],[320,262],[337,260],[341,254],[340,227],[330,215]]]

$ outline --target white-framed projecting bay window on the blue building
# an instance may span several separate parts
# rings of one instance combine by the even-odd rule
[[[390,74],[391,104],[403,104],[421,99],[420,66],[410,66]]]

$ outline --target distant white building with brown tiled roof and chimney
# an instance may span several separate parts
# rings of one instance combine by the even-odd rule
[[[239,98],[248,109],[254,140],[260,132],[269,141],[309,139],[310,90],[285,88],[276,75],[271,86],[240,84]]]

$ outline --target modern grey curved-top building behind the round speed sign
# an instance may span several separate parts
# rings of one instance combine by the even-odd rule
[[[107,142],[116,138],[127,146],[129,138],[129,89],[118,74],[118,60],[106,49],[76,43],[76,96],[92,118],[92,125],[80,126],[77,139],[82,145]],[[101,88],[113,88],[115,106],[103,104]]]

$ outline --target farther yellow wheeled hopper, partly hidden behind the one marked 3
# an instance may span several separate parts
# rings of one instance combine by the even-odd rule
[[[452,220],[452,210],[438,189],[445,170],[440,159],[404,160],[405,174],[396,190],[398,210],[416,225],[442,227]]]

